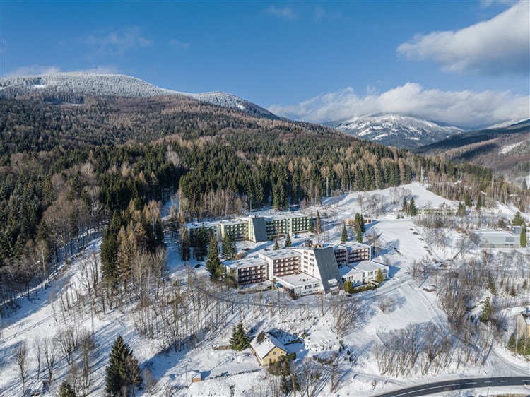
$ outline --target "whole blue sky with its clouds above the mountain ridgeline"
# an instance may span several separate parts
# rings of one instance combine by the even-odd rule
[[[292,119],[530,118],[529,1],[6,1],[0,77],[122,73]]]

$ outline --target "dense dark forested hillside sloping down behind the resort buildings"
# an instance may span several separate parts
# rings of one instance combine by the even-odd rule
[[[422,170],[440,194],[471,202],[491,179],[482,167],[186,97],[48,100],[0,100],[0,277],[22,289],[47,277],[61,256],[68,260],[113,214],[117,232],[135,211],[151,211],[153,219],[136,217],[147,229],[160,217],[149,203],[177,191],[189,220],[398,186]],[[469,184],[447,184],[466,175]],[[510,186],[495,189],[507,200]]]

